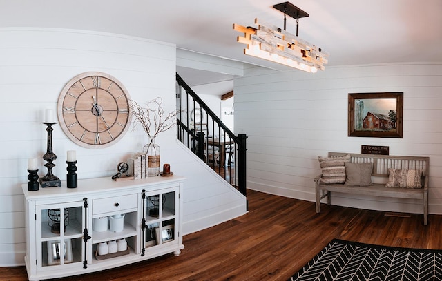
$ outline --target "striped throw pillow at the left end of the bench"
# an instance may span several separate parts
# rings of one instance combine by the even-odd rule
[[[338,157],[318,156],[320,169],[323,173],[321,183],[345,183],[345,162],[349,162],[350,154]]]

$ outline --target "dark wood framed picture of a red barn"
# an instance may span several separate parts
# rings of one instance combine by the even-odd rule
[[[402,138],[403,92],[348,94],[348,136]]]

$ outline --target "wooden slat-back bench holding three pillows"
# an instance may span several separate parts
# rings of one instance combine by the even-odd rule
[[[349,153],[329,152],[329,157],[345,156]],[[351,163],[373,163],[372,185],[347,186],[343,183],[321,183],[322,175],[315,181],[316,213],[320,212],[320,200],[327,197],[327,204],[331,204],[332,192],[347,194],[361,194],[367,196],[381,196],[391,198],[414,198],[423,202],[423,224],[428,223],[428,169],[430,158],[424,156],[388,156],[372,154],[349,154]],[[388,181],[388,169],[421,169],[421,188],[385,187]]]

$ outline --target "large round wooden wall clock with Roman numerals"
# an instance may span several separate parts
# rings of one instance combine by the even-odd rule
[[[61,129],[77,145],[113,145],[129,128],[131,98],[115,77],[102,72],[75,76],[61,90],[57,114]]]

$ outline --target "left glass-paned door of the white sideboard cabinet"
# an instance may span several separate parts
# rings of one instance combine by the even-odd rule
[[[36,209],[37,267],[81,263],[86,251],[83,202],[37,205]]]

